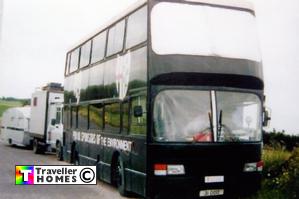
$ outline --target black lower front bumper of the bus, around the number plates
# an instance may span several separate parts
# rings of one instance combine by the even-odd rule
[[[261,173],[225,175],[223,182],[206,183],[205,177],[153,176],[149,178],[148,195],[151,198],[237,198],[248,196],[260,188]],[[214,175],[215,176],[215,175]],[[217,175],[219,176],[219,175]],[[214,194],[214,195],[213,195]],[[209,198],[211,198],[208,196]]]

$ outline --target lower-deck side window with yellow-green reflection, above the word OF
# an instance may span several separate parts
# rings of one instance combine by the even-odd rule
[[[89,128],[93,130],[103,129],[103,104],[89,105]]]

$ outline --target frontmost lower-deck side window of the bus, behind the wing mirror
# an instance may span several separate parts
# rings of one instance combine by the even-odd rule
[[[141,117],[134,116],[134,107],[141,106],[143,113]],[[130,134],[146,135],[146,96],[132,98],[130,111]]]

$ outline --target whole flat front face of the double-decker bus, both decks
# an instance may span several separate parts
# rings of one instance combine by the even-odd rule
[[[150,1],[147,194],[258,190],[263,74],[255,14],[237,1]]]

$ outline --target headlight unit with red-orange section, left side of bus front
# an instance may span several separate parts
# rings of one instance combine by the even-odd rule
[[[185,167],[184,165],[176,164],[155,164],[154,174],[156,176],[166,176],[166,175],[184,175]]]

